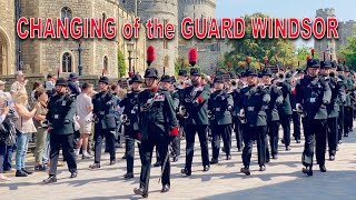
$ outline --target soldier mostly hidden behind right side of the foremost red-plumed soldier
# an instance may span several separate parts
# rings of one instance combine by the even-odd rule
[[[174,110],[178,111],[179,94],[175,91],[171,91],[171,78],[169,76],[162,76],[160,79],[160,84],[161,84],[161,90],[167,91],[171,96]],[[177,162],[178,157],[180,156],[180,131],[178,137],[176,137],[175,140],[172,141],[171,148],[172,148],[172,152],[171,152],[172,161]]]

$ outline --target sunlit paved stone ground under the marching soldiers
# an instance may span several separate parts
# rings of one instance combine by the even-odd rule
[[[281,134],[280,134],[281,136]],[[198,141],[198,140],[197,140]],[[185,142],[182,142],[185,148]],[[355,199],[356,198],[356,132],[344,139],[335,161],[327,161],[328,171],[320,173],[315,167],[314,177],[301,173],[303,142],[293,142],[291,151],[280,147],[278,160],[271,160],[265,172],[258,171],[256,147],[253,154],[251,176],[239,173],[240,152],[233,142],[233,159],[211,166],[209,172],[202,172],[200,150],[196,143],[192,176],[181,176],[185,159],[172,163],[171,190],[160,193],[158,183],[159,168],[152,168],[149,199]],[[182,151],[185,154],[185,151]],[[117,158],[123,156],[123,149],[117,149]],[[328,158],[328,154],[326,154]],[[132,189],[139,186],[140,164],[135,160],[135,179],[125,180],[125,160],[118,159],[116,166],[108,166],[109,156],[103,154],[102,167],[90,170],[92,160],[79,161],[79,176],[69,179],[66,167],[59,168],[58,182],[42,186],[46,172],[36,172],[28,178],[12,177],[10,182],[0,182],[0,199],[139,199]],[[152,160],[152,163],[156,159]]]

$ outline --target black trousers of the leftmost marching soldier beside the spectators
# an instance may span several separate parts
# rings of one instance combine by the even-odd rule
[[[57,176],[57,166],[60,148],[62,148],[63,158],[66,158],[68,170],[77,172],[77,161],[75,153],[75,134],[50,134],[50,169],[49,176]]]

